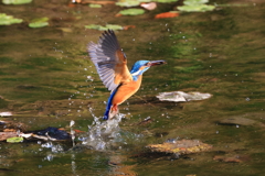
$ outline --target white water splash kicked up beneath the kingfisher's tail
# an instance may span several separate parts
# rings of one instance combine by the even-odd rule
[[[71,148],[64,147],[62,144],[55,144],[52,141],[47,141],[42,144],[38,142],[42,148],[50,148],[52,154],[62,153],[68,151],[77,151],[82,148],[92,148],[95,151],[108,151],[112,148],[123,148],[125,145],[140,142],[144,134],[135,134],[120,129],[119,123],[126,114],[118,113],[113,119],[103,121],[102,117],[97,118],[93,113],[93,108],[88,109],[92,117],[94,118],[91,125],[88,125],[88,131],[82,134],[75,133],[73,125],[75,122],[72,120],[70,122],[70,130],[73,145]]]

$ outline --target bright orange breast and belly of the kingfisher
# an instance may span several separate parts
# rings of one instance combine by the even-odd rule
[[[119,86],[117,92],[113,98],[112,105],[120,105],[130,98],[134,94],[136,94],[136,91],[140,88],[141,78],[142,76],[140,75],[136,81],[131,80]]]

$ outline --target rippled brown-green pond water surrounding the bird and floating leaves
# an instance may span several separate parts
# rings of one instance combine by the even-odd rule
[[[70,131],[74,121],[76,130],[74,145],[0,142],[0,173],[264,175],[265,4],[216,0],[210,1],[213,11],[153,18],[181,4],[158,3],[153,11],[136,16],[115,16],[126,9],[115,4],[89,8],[68,0],[0,4],[1,13],[23,19],[0,25],[0,112],[12,113],[1,121],[21,131],[47,127]],[[29,28],[38,18],[49,18],[49,26]],[[129,68],[139,59],[167,61],[146,72],[139,91],[119,106],[120,119],[109,124],[108,140],[96,128],[106,123],[100,118],[109,91],[86,52],[103,32],[85,29],[91,24],[135,25],[115,31]],[[189,102],[156,98],[169,91],[212,97]],[[92,144],[91,138],[98,141]],[[172,139],[199,140],[212,148],[178,156],[146,147]],[[96,147],[100,142],[105,145]]]

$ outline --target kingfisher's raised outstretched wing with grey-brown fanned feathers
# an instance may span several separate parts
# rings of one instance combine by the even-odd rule
[[[132,80],[126,56],[114,31],[104,32],[98,44],[91,42],[87,50],[103,84],[108,90],[114,90],[118,85]]]

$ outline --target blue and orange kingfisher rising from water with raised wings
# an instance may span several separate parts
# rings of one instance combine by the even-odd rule
[[[104,120],[113,119],[118,113],[118,105],[137,92],[146,70],[166,64],[165,61],[138,61],[129,72],[127,57],[113,30],[105,31],[97,44],[91,42],[87,52],[103,84],[110,90]]]

